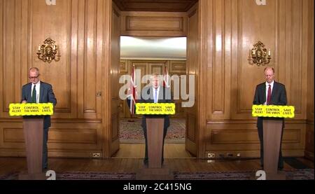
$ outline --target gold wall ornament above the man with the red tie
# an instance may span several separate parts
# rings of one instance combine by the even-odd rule
[[[249,50],[249,63],[257,64],[257,66],[268,64],[271,60],[270,48],[267,53],[267,48],[265,48],[265,45],[260,41],[253,46],[254,48]]]

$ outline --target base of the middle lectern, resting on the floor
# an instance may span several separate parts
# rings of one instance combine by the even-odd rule
[[[174,174],[168,168],[144,168],[136,174],[137,180],[173,180]]]

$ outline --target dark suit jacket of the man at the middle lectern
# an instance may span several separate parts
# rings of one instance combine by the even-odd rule
[[[145,97],[146,95],[146,97]],[[146,87],[141,92],[141,99],[138,101],[140,103],[154,103],[153,97],[153,86]],[[158,103],[172,103],[171,90],[160,86]],[[169,127],[169,116],[168,115],[144,115],[142,116],[141,126],[146,129],[146,118],[165,118],[164,128]]]

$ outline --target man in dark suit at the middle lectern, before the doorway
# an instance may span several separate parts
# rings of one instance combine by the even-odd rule
[[[151,86],[144,88],[141,91],[140,103],[172,103],[171,90],[159,84],[158,74],[151,76]],[[146,152],[144,155],[144,164],[148,165],[148,141],[146,133],[146,118],[165,118],[163,131],[163,146],[162,146],[162,163],[164,162],[164,140],[169,127],[169,116],[144,115],[142,116],[141,126],[144,129],[144,137],[146,139]]]

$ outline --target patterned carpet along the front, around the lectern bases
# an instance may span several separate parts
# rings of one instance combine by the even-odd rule
[[[314,180],[314,169],[283,170],[287,180]],[[135,173],[117,172],[56,172],[57,180],[135,180]],[[14,180],[18,173],[0,176],[0,180]],[[244,172],[174,172],[175,180],[254,180],[254,171]]]

